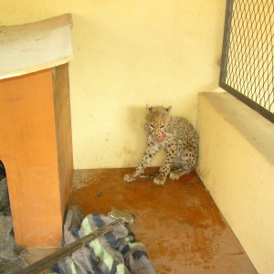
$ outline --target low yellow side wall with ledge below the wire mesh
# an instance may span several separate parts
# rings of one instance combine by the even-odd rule
[[[274,273],[274,125],[228,93],[198,100],[198,174],[258,273]]]

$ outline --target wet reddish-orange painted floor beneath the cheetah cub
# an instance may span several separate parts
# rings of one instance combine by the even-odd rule
[[[76,170],[71,205],[86,215],[111,207],[133,212],[132,231],[159,274],[257,273],[197,174],[159,186],[145,179],[123,183],[129,171]]]

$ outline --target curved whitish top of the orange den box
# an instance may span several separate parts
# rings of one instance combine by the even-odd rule
[[[0,26],[0,79],[68,63],[72,58],[70,14],[17,26]]]

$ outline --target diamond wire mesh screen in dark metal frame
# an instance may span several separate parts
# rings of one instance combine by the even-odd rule
[[[274,0],[227,0],[220,86],[274,122]]]

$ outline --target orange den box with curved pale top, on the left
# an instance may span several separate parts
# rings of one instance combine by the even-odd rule
[[[70,28],[69,15],[0,27],[0,160],[22,248],[58,247],[62,236],[73,174]]]

